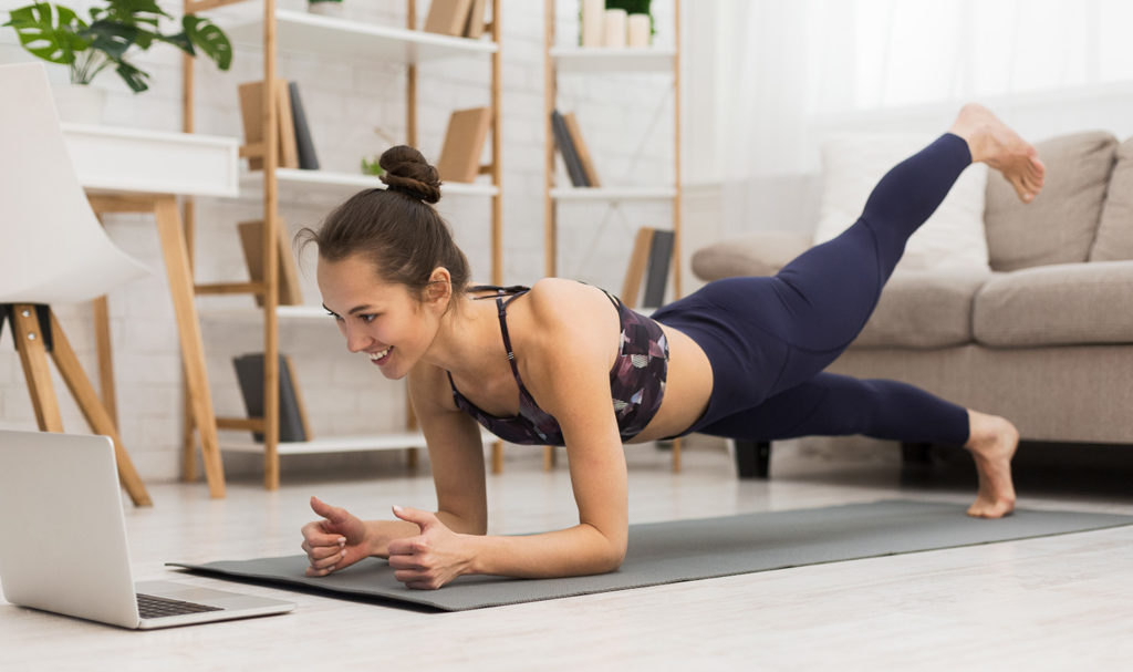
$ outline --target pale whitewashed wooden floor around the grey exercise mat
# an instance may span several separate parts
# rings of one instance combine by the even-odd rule
[[[778,458],[770,482],[740,482],[719,451],[687,451],[684,473],[629,449],[631,520],[724,516],[903,496],[966,502],[972,475],[945,463]],[[1021,505],[1133,512],[1133,468],[1020,473]],[[358,512],[431,507],[427,469],[284,476],[276,493],[230,483],[151,484],[127,511],[135,578],[165,561],[298,553],[309,495]],[[489,482],[493,531],[573,522],[563,467],[538,453]],[[3,539],[2,543],[10,543]],[[28,552],[34,552],[29,548]],[[76,553],[82,553],[76,548]],[[231,587],[184,576],[191,584]],[[1128,670],[1133,528],[838,562],[463,613],[423,613],[290,594],[291,614],[138,632],[0,603],[0,670]],[[95,663],[97,661],[99,663]]]

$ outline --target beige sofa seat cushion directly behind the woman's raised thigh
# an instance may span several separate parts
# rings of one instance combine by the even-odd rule
[[[854,341],[861,348],[947,348],[972,341],[972,303],[990,274],[898,271]]]

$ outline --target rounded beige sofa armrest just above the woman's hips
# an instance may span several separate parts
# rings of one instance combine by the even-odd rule
[[[692,255],[692,272],[710,282],[735,275],[774,275],[810,248],[811,233],[765,231],[702,247]]]

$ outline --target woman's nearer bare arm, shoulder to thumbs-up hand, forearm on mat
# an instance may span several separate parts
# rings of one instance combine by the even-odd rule
[[[563,431],[579,524],[537,535],[467,536],[444,529],[428,513],[401,511],[401,518],[421,528],[420,535],[390,544],[390,564],[409,587],[437,588],[462,573],[564,577],[602,573],[621,564],[629,503],[625,458],[610,399],[616,315],[600,294],[571,294],[531,292],[528,330],[540,338],[525,338],[522,373],[528,391]],[[580,315],[610,316],[613,325]],[[438,480],[438,495],[441,488]]]

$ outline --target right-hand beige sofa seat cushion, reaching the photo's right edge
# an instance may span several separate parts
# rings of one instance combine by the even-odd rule
[[[976,296],[972,333],[1004,348],[1133,343],[1133,262],[996,274]]]

